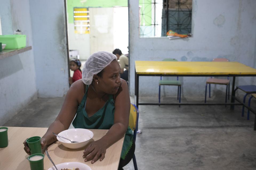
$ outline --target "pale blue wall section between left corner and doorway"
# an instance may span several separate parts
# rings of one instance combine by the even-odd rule
[[[30,0],[38,97],[62,97],[69,89],[63,0]]]

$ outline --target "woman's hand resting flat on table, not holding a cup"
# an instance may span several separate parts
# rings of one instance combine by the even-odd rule
[[[85,162],[91,161],[93,164],[97,160],[102,161],[105,158],[107,146],[106,142],[102,142],[101,140],[91,142],[83,151],[83,158],[85,158]]]

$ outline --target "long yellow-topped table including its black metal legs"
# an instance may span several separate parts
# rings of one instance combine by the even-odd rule
[[[233,77],[231,103],[139,103],[140,76]],[[239,62],[135,61],[136,106],[139,105],[241,105],[235,102],[235,77],[256,76],[256,69]],[[255,114],[255,113],[254,113]],[[255,119],[256,120],[256,119]]]

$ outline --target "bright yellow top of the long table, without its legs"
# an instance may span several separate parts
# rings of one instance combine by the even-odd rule
[[[135,61],[137,74],[256,75],[256,69],[239,62]]]

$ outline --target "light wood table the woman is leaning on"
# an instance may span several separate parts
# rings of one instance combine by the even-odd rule
[[[8,127],[9,145],[5,148],[0,148],[0,169],[1,170],[28,170],[30,169],[29,161],[26,159],[29,155],[23,150],[22,144],[26,138],[32,136],[43,136],[48,128],[23,128],[23,127]],[[104,136],[108,130],[90,129],[93,133],[93,140],[96,141]],[[120,155],[122,151],[124,138],[115,142],[107,149],[105,159],[101,162],[98,160],[94,164],[84,162],[82,158],[85,147],[77,150],[72,150],[64,147],[59,141],[48,147],[49,155],[55,164],[64,162],[81,162],[89,165],[91,169],[118,169]],[[45,153],[44,153],[45,154]],[[45,155],[44,169],[49,169],[53,165]]]

